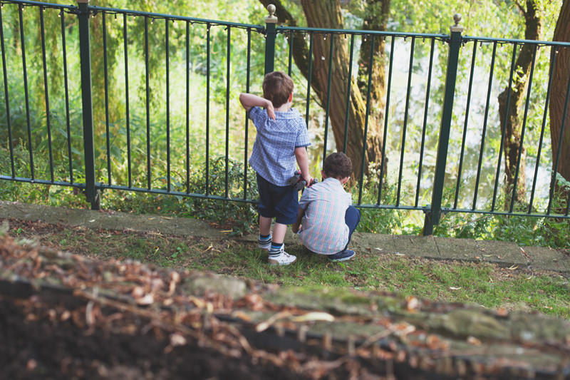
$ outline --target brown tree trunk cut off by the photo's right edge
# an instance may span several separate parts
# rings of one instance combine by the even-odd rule
[[[556,29],[554,29],[554,41],[570,41],[570,0],[564,0],[556,21]],[[570,180],[570,108],[566,111],[566,120],[562,120],[564,115],[564,107],[570,107],[566,104],[566,91],[568,90],[568,81],[570,78],[570,48],[559,48],[551,54],[550,61],[554,59],[556,54],[556,62],[554,63],[554,73],[552,77],[552,90],[549,103],[550,112],[550,138],[552,141],[552,168],[556,164],[556,156],[560,150],[560,158],[557,172],[566,180]],[[564,126],[564,135],[560,135],[562,125]],[[558,189],[559,191],[561,189]],[[566,191],[562,199],[569,196]]]

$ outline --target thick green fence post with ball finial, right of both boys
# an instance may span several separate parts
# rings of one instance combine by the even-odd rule
[[[423,235],[432,235],[433,226],[440,222],[441,200],[445,180],[445,165],[447,163],[447,145],[450,139],[450,128],[453,111],[453,96],[455,95],[455,80],[457,79],[457,62],[461,48],[463,27],[460,26],[461,15],[454,14],[455,25],[450,26],[450,48],[447,56],[447,73],[445,75],[445,95],[440,126],[440,142],[437,146],[435,161],[435,178],[433,180],[432,203],[425,211]]]

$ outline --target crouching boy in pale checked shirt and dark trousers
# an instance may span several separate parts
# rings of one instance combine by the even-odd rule
[[[328,260],[344,261],[354,257],[348,250],[352,233],[361,220],[361,213],[352,205],[350,193],[343,185],[352,173],[351,159],[344,153],[328,155],[323,162],[323,181],[306,188],[299,200],[299,212],[293,232],[305,247],[328,255]]]

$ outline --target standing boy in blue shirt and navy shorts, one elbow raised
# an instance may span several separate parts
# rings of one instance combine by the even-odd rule
[[[263,81],[263,98],[250,93],[239,95],[257,128],[249,165],[257,173],[259,191],[258,245],[269,251],[270,265],[289,265],[296,257],[284,250],[287,225],[295,222],[299,192],[289,185],[296,171],[311,183],[306,146],[310,145],[305,120],[291,108],[293,81],[285,73],[274,71]],[[265,111],[261,109],[265,108]],[[271,222],[275,218],[273,234]]]

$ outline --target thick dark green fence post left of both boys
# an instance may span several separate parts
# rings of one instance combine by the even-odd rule
[[[91,209],[99,210],[99,192],[95,186],[95,144],[93,142],[93,101],[91,98],[91,53],[89,46],[89,0],[77,0],[79,6],[79,51],[81,58],[81,103],[83,110],[83,150],[85,154],[85,193]]]

